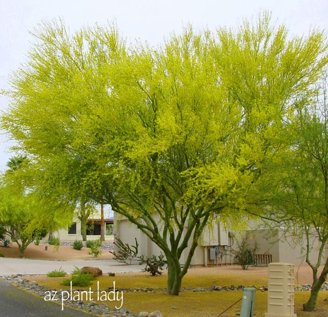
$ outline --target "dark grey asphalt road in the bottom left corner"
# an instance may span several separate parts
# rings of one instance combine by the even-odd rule
[[[24,290],[0,280],[0,316],[2,317],[86,317],[90,314],[74,310],[67,306],[46,302]]]

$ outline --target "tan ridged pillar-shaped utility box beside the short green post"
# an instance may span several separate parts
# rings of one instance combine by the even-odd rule
[[[296,317],[294,313],[294,264],[270,263],[268,312],[265,317]]]

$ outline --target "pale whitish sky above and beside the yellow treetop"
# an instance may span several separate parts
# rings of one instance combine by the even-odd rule
[[[71,32],[83,26],[115,22],[121,36],[158,46],[170,33],[191,23],[196,29],[238,27],[244,18],[268,10],[272,21],[284,24],[291,35],[310,29],[328,30],[327,0],[0,0],[0,91],[9,89],[9,76],[27,61],[38,23],[62,18]],[[0,95],[0,110],[10,101]],[[0,170],[10,152],[8,136],[0,135]]]

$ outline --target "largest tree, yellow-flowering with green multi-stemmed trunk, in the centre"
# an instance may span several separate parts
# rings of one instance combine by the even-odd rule
[[[267,14],[237,32],[188,27],[157,49],[127,48],[114,28],[39,34],[2,126],[49,189],[83,189],[159,246],[178,295],[204,226],[243,217],[275,131],[322,68],[322,34],[288,41]]]

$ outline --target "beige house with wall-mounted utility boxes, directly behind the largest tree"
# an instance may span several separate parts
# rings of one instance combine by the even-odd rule
[[[255,243],[257,252],[255,261],[257,265],[267,265],[271,262],[293,263],[295,265],[305,264],[305,236],[297,242],[293,237],[286,234],[284,228],[257,229],[258,225],[250,225],[250,229],[235,232],[225,228],[219,222],[206,226],[199,238],[198,246],[191,261],[193,266],[210,265],[232,265],[236,263],[233,250],[238,249],[238,244],[242,239],[247,239],[250,246]],[[253,228],[252,228],[253,227]],[[139,243],[138,255],[151,256],[159,255],[161,250],[154,244],[148,236],[130,223],[125,217],[114,214],[114,236],[124,243],[135,245],[134,238]],[[310,253],[310,260],[316,262],[317,250],[316,241],[312,239],[313,249]],[[187,259],[188,249],[183,251],[180,263],[183,265]],[[323,254],[324,259],[328,257],[328,246]]]

